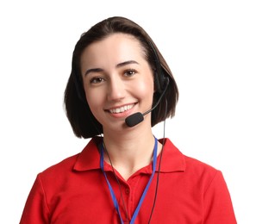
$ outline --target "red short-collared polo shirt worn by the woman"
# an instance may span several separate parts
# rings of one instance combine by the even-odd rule
[[[93,138],[81,153],[38,174],[28,195],[21,224],[121,223],[100,169],[97,147],[100,141],[101,138]],[[159,158],[157,170],[158,167]],[[122,219],[128,223],[112,168],[105,163],[104,170],[115,191]],[[152,165],[147,165],[125,181],[116,171],[129,220],[151,173]],[[142,203],[136,224],[148,223],[153,208],[157,173]],[[157,199],[150,223],[236,223],[222,172],[197,159],[184,156],[166,139]]]

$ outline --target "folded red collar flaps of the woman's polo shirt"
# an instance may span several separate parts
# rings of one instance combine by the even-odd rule
[[[94,137],[90,140],[84,150],[78,154],[73,169],[75,171],[90,171],[97,170],[100,168],[100,152],[98,145],[102,142],[102,137]],[[184,171],[185,170],[185,159],[182,152],[178,150],[176,146],[172,144],[169,139],[161,139],[160,143],[165,141],[163,147],[163,156],[161,159],[160,171],[161,172],[173,172],[173,171]],[[159,167],[160,154],[157,161],[157,171]],[[149,171],[149,169],[146,169]],[[150,169],[151,170],[151,169]],[[144,170],[145,171],[145,170]]]

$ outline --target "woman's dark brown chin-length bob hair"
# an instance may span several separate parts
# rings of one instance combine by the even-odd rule
[[[152,111],[152,127],[175,114],[176,104],[178,103],[178,86],[169,66],[161,53],[159,53],[159,49],[155,46],[153,40],[147,32],[135,22],[120,16],[109,17],[102,22],[98,22],[87,32],[82,34],[73,51],[72,72],[66,84],[64,106],[72,130],[78,138],[83,137],[87,139],[103,134],[103,127],[94,115],[92,115],[86,100],[80,66],[81,54],[84,52],[84,49],[92,43],[103,40],[110,34],[116,33],[130,34],[140,41],[145,59],[147,59],[154,74],[155,92],[153,94],[153,105],[158,101],[160,96],[159,90],[157,90],[158,88],[156,87],[156,82],[159,81],[159,75],[169,78],[164,96],[160,100],[159,105]],[[161,74],[158,74],[159,70],[157,66],[159,66]]]

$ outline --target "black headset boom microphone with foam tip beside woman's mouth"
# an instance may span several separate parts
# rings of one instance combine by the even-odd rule
[[[155,103],[152,109],[147,110],[144,114],[137,112],[133,115],[129,115],[125,119],[125,123],[128,127],[134,127],[135,125],[139,124],[141,121],[144,121],[144,116],[150,113],[153,109],[155,109],[159,105],[160,100],[165,95],[165,91],[167,90],[168,84],[169,84],[169,78],[166,78],[165,90],[162,92],[161,96],[159,96],[158,102]]]

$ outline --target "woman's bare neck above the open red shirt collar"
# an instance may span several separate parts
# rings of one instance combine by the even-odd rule
[[[104,159],[109,164],[110,159],[124,179],[152,162],[154,137],[151,128],[146,130],[148,131],[128,130],[119,134],[104,132],[104,145],[109,154],[105,154]],[[161,146],[158,145],[159,153]]]

